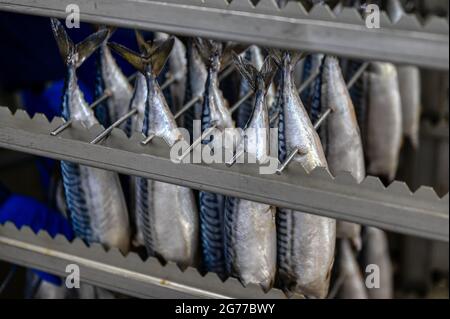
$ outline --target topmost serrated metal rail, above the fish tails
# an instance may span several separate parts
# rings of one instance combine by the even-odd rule
[[[308,12],[274,0],[0,0],[0,10],[66,18],[74,3],[91,23],[449,68],[448,21],[437,17],[421,22],[405,14],[393,22],[382,12],[380,28],[369,29],[353,8],[335,13],[318,4]]]

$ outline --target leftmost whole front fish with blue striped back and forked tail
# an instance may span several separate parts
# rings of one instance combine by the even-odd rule
[[[99,31],[74,45],[57,19],[52,29],[67,73],[62,102],[63,117],[86,128],[98,123],[77,84],[76,69],[106,39]],[[61,162],[67,206],[75,233],[87,242],[97,241],[122,252],[129,248],[130,229],[124,195],[116,173],[66,161]]]

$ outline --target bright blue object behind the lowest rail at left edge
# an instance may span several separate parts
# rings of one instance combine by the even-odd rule
[[[64,235],[73,240],[74,234],[69,222],[59,212],[47,207],[39,201],[22,195],[11,195],[3,204],[0,203],[0,224],[12,222],[17,228],[29,226],[35,233],[46,230],[50,236]],[[46,272],[33,269],[45,281],[61,285],[61,278]]]

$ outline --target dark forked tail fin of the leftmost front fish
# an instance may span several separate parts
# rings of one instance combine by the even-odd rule
[[[97,31],[75,45],[58,19],[51,18],[51,25],[61,57],[66,64],[73,64],[75,68],[80,67],[94,53],[105,41],[109,32],[108,30]]]

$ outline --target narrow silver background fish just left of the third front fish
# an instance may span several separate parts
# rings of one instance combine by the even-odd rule
[[[200,53],[195,45],[190,45],[189,50],[189,73],[192,97],[203,97],[205,92],[206,78],[208,77],[208,70],[202,60]],[[202,115],[202,103],[197,103],[194,109],[194,116],[199,120]]]

